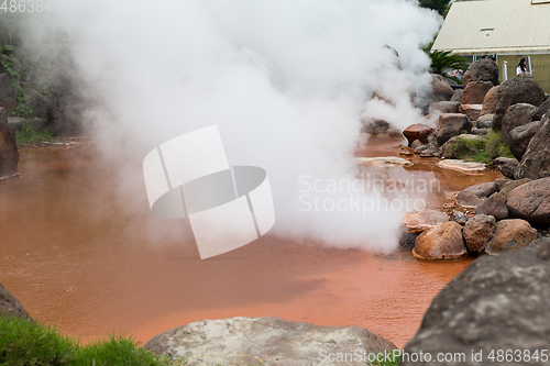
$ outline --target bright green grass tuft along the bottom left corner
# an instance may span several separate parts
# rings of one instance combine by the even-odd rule
[[[0,365],[90,366],[92,364],[176,366],[185,365],[185,362],[154,356],[140,347],[132,337],[112,335],[106,341],[81,345],[78,340],[61,335],[53,326],[0,315]]]

